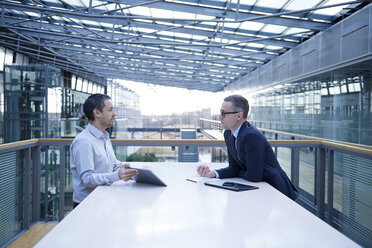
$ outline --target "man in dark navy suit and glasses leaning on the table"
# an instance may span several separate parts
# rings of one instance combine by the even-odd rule
[[[201,165],[197,172],[204,177],[241,177],[248,181],[264,181],[296,200],[296,188],[279,165],[265,136],[247,122],[249,104],[240,95],[228,96],[221,107],[220,121],[226,129],[224,138],[229,157],[229,166],[211,171]]]

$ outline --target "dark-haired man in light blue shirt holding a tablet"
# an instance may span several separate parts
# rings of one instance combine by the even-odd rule
[[[106,128],[112,127],[116,113],[111,98],[94,94],[85,101],[87,127],[74,139],[70,147],[70,166],[74,184],[74,208],[97,186],[115,181],[128,181],[138,174],[129,164],[116,159]]]

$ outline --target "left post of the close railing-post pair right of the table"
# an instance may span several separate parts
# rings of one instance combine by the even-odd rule
[[[315,204],[316,215],[324,220],[324,196],[325,196],[325,150],[317,148],[317,161],[315,169]]]

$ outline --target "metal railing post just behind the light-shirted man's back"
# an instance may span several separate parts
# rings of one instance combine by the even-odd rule
[[[65,146],[59,146],[59,199],[58,220],[65,216]]]

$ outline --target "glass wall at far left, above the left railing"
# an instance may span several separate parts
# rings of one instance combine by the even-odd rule
[[[5,142],[59,137],[60,74],[45,64],[5,66]]]

